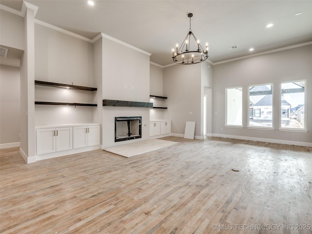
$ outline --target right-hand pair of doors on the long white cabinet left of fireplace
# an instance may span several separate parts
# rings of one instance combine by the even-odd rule
[[[73,128],[74,149],[99,145],[100,141],[100,126],[78,126]]]

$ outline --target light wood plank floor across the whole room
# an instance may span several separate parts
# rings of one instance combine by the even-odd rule
[[[0,150],[0,233],[312,233],[311,147],[163,139],[179,144],[131,158]]]

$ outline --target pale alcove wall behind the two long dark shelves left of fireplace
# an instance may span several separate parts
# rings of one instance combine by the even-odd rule
[[[35,79],[94,87],[93,44],[35,24]],[[36,101],[96,103],[96,92],[35,86]],[[35,106],[36,125],[93,122],[96,107]]]

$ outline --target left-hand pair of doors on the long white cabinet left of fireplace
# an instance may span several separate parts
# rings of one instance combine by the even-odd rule
[[[73,128],[37,129],[37,155],[50,154],[73,148]]]

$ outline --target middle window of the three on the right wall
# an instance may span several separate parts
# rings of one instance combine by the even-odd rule
[[[273,127],[273,85],[249,86],[250,127]]]

